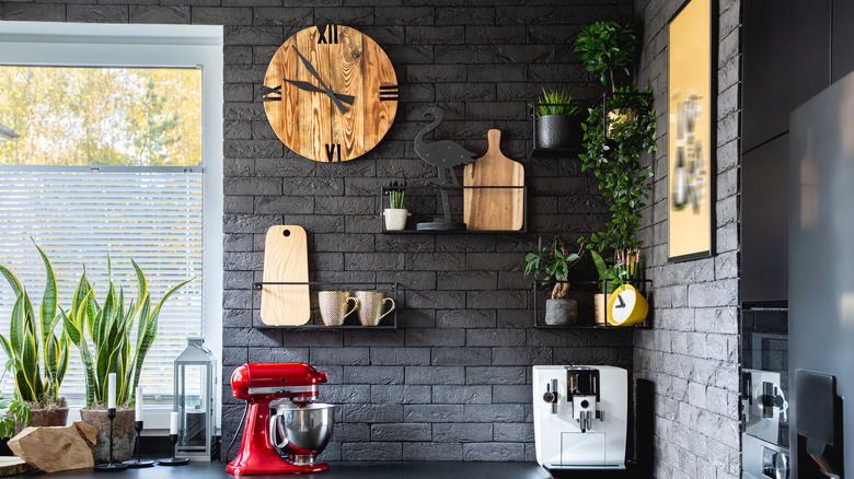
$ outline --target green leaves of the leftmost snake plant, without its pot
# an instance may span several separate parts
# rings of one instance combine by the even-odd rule
[[[62,328],[58,336],[54,334],[61,320],[56,314],[56,277],[45,253],[38,245],[36,248],[46,272],[38,316],[24,287],[9,268],[0,265],[0,273],[16,296],[9,337],[0,335],[0,346],[9,359],[7,371],[14,374],[14,400],[45,406],[57,402],[59,386],[68,369],[68,337]],[[23,422],[27,423],[28,420]]]

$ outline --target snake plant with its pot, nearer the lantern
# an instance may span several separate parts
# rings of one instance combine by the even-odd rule
[[[111,273],[106,295],[100,303],[84,271],[78,281],[71,308],[68,313],[60,308],[66,332],[80,351],[85,372],[86,399],[80,418],[97,430],[95,463],[109,460],[109,420],[106,416],[108,374],[116,374],[118,406],[113,423],[113,455],[114,460],[122,462],[130,458],[135,434],[135,395],[146,354],[157,338],[160,312],[166,300],[191,281],[169,290],[152,309],[146,274],[136,261],[130,262],[137,279],[136,302],[125,304],[124,290],[116,290]]]

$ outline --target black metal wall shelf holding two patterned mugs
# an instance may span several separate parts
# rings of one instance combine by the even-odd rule
[[[309,285],[309,293],[311,294],[311,319],[309,323],[304,325],[295,325],[295,326],[275,326],[275,325],[267,325],[261,322],[258,318],[255,319],[255,291],[261,291],[264,289],[265,285]],[[346,288],[339,288],[337,290],[321,290],[321,291],[341,291],[347,290],[347,291],[382,291],[383,289],[388,290],[389,297],[394,300],[395,307],[394,311],[386,317],[380,320],[380,324],[377,326],[362,326],[359,324],[358,314],[353,314],[350,317],[346,318],[344,320],[344,324],[342,326],[326,326],[323,324],[323,319],[321,318],[320,309],[318,308],[318,302],[316,302],[316,293],[318,290],[312,290],[311,287],[321,287],[321,285],[334,285],[334,287],[346,287]],[[350,288],[350,287],[359,287],[359,288]],[[305,281],[305,282],[277,282],[277,281],[254,281],[252,283],[252,306],[251,306],[251,318],[252,318],[252,327],[255,329],[360,329],[360,330],[377,330],[377,329],[397,329],[397,312],[402,308],[402,302],[399,297],[399,292],[401,291],[401,287],[397,282],[347,282],[347,281]],[[389,294],[386,293],[386,294]]]

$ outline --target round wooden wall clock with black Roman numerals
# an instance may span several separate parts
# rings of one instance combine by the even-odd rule
[[[385,51],[344,25],[302,30],[276,51],[264,109],[279,139],[319,162],[371,151],[397,112],[397,77]]]

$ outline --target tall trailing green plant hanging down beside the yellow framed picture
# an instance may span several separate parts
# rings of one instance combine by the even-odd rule
[[[634,83],[621,86],[618,81],[620,72],[628,75],[637,44],[633,27],[615,22],[595,23],[576,40],[575,49],[587,70],[599,75],[600,83],[610,91],[607,107],[589,109],[581,126],[586,152],[578,155],[581,170],[593,172],[599,190],[610,203],[611,219],[605,230],[593,233],[587,242],[589,249],[599,253],[643,245],[635,233],[643,219],[639,211],[649,200],[654,173],[641,156],[656,150],[655,112],[648,89],[641,92]]]

